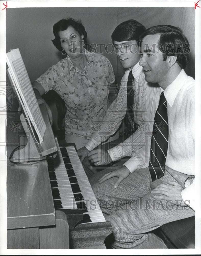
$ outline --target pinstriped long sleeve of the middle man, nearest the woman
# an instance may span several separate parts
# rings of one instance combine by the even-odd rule
[[[122,79],[122,81],[124,80]],[[127,110],[127,97],[123,97],[126,93],[125,83],[121,82],[119,93],[109,106],[100,129],[93,134],[92,138],[85,145],[89,151],[97,147],[104,138],[107,140],[119,128]],[[104,134],[104,136],[100,137],[100,134]]]

